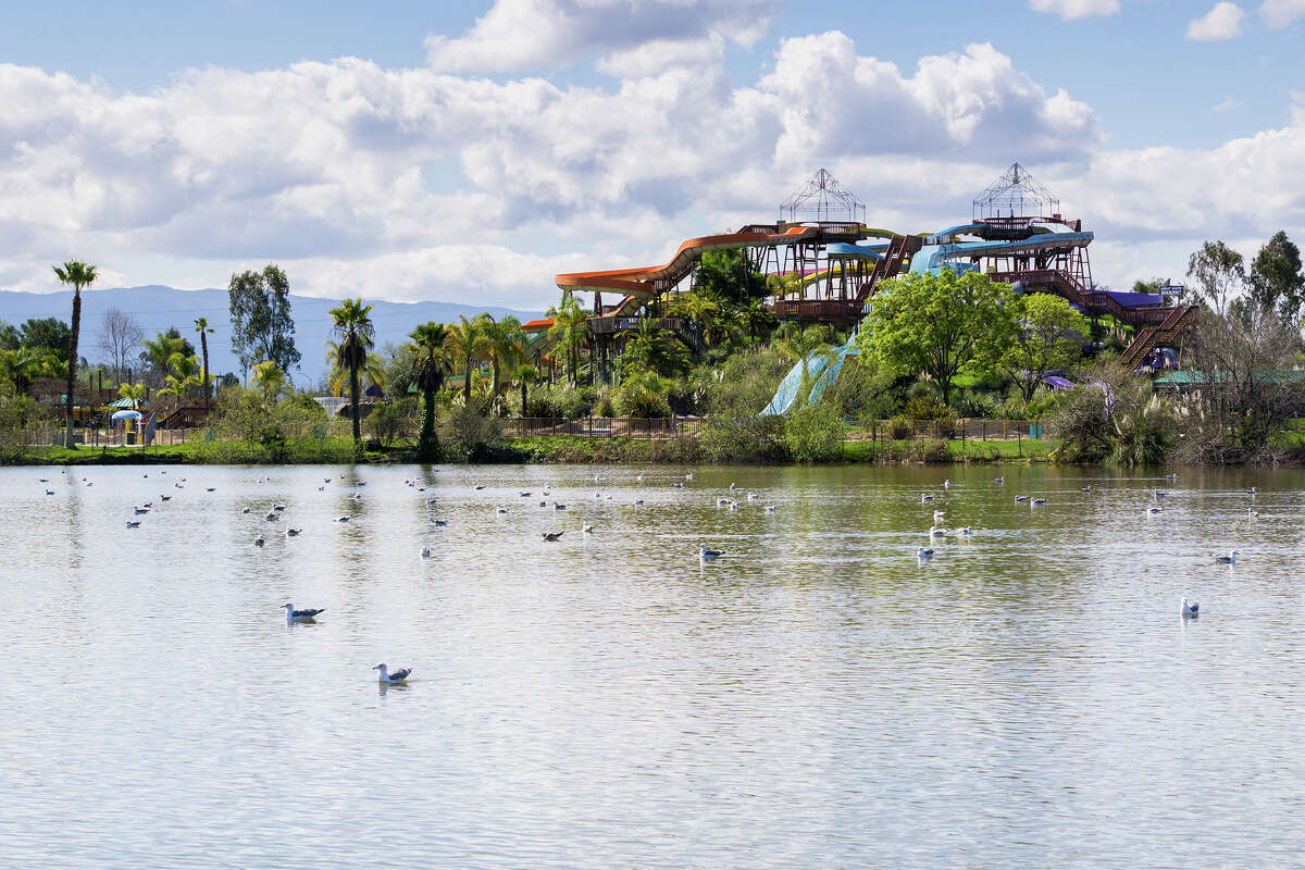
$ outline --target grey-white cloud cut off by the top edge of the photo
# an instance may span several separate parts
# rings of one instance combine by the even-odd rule
[[[719,38],[750,46],[783,5],[783,0],[496,0],[467,33],[428,37],[425,47],[435,69],[515,72],[568,67],[647,43],[701,46]]]

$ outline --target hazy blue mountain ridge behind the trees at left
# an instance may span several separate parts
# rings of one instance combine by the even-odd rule
[[[518,312],[510,308],[476,308],[457,303],[386,303],[372,301],[372,322],[376,323],[376,346],[386,342],[399,344],[418,323],[438,321],[457,322],[459,314],[472,317],[488,312],[495,318],[513,316],[526,322],[543,317],[539,312]],[[324,347],[330,337],[331,318],[328,313],[339,304],[334,299],[311,296],[290,297],[291,316],[295,318],[295,347],[303,353],[300,372],[292,372],[300,386],[312,383],[326,373]],[[240,364],[231,351],[231,308],[224,290],[176,290],[150,284],[147,287],[119,287],[116,290],[82,291],[82,333],[80,355],[87,360],[100,359],[99,330],[104,312],[117,308],[136,317],[146,338],[176,326],[198,348],[194,318],[207,317],[217,333],[209,337],[209,367],[214,374],[239,372]],[[23,293],[0,291],[0,320],[14,326],[31,317],[57,317],[67,321],[72,316],[72,293]]]

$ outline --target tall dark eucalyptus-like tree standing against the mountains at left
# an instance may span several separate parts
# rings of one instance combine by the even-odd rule
[[[258,361],[271,360],[282,372],[299,365],[295,350],[295,321],[290,316],[290,280],[274,263],[261,273],[231,275],[227,288],[231,301],[231,347],[241,372]]]

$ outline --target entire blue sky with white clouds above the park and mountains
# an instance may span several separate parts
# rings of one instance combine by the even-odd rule
[[[1305,241],[1305,0],[7,0],[0,288],[540,309],[818,168],[934,231],[1018,160],[1094,275]],[[12,8],[8,8],[12,7]]]

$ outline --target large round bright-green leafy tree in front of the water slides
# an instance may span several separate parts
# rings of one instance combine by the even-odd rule
[[[857,342],[890,369],[927,372],[947,402],[951,378],[996,361],[1018,307],[1010,286],[977,271],[911,273],[880,284]]]

